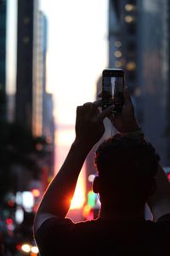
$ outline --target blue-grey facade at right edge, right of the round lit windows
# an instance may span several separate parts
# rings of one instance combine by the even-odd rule
[[[138,84],[143,109],[142,127],[145,136],[161,155],[162,165],[169,166],[169,3],[167,0],[149,0],[142,4],[138,1],[138,9]]]

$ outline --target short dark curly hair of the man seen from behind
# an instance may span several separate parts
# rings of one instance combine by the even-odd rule
[[[128,190],[131,195],[139,191],[145,200],[150,182],[156,177],[159,160],[155,148],[141,137],[118,133],[99,145],[95,167],[106,189]]]

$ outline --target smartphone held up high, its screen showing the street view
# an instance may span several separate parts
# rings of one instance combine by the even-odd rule
[[[118,68],[107,68],[102,72],[102,109],[114,104],[113,113],[121,113],[124,89],[124,72]]]

